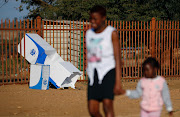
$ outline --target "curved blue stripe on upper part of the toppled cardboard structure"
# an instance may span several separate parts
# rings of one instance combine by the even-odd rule
[[[45,54],[44,49],[39,44],[37,44],[28,34],[26,34],[26,36],[28,36],[36,44],[36,46],[37,46],[37,48],[39,50],[38,58],[37,58],[35,64],[36,63],[44,64],[44,61],[45,61],[45,59],[47,57],[47,55]]]

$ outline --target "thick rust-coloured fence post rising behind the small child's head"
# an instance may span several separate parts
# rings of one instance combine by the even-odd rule
[[[156,57],[156,52],[155,52],[155,28],[156,28],[156,18],[152,18],[152,37],[151,37],[151,56]]]

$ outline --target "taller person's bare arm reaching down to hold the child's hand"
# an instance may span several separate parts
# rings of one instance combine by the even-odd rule
[[[125,91],[122,89],[121,85],[121,49],[120,49],[120,42],[119,42],[119,36],[117,31],[112,32],[112,43],[113,43],[113,49],[114,49],[114,58],[116,63],[116,80],[115,80],[115,86],[114,86],[114,94],[124,94]]]

